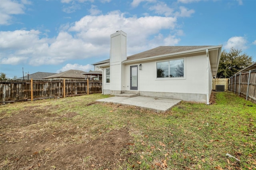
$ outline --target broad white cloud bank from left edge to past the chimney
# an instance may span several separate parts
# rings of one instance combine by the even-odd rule
[[[60,28],[57,37],[42,38],[38,30],[15,30],[0,32],[1,63],[28,63],[37,65],[56,65],[72,59],[90,57],[109,57],[110,34],[123,30],[127,36],[128,55],[159,45],[175,45],[182,34],[176,30],[174,17],[144,16],[125,17],[119,11],[100,16],[84,16],[79,21],[67,23]],[[174,32],[174,35],[161,30]]]

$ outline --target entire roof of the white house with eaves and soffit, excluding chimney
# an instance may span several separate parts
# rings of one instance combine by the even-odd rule
[[[194,53],[208,50],[210,56],[210,63],[212,74],[216,76],[218,70],[218,64],[220,60],[220,52],[222,45],[200,45],[200,46],[159,46],[141,53],[130,55],[122,63],[137,63],[141,61],[149,61],[156,59],[164,59],[164,57],[182,55],[186,53]],[[217,56],[217,57],[212,57]],[[110,59],[94,63],[93,65],[103,64],[110,62]]]

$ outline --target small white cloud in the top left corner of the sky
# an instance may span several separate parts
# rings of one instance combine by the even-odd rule
[[[28,1],[24,1],[29,4]],[[10,25],[12,15],[24,14],[25,6],[22,3],[14,2],[11,0],[2,0],[0,4],[0,25]]]

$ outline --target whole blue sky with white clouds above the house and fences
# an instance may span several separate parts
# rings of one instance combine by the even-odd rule
[[[256,61],[255,0],[1,0],[0,72],[93,70],[110,34],[127,55],[160,45],[223,45]]]

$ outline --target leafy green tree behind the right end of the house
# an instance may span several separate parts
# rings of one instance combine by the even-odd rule
[[[218,67],[218,78],[229,78],[240,69],[252,64],[252,56],[232,47],[229,52],[222,51]]]

